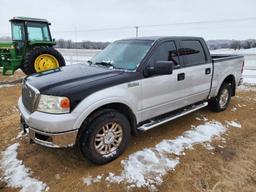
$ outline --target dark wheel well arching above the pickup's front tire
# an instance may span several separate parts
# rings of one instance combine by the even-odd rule
[[[81,127],[86,127],[86,124],[89,124],[96,116],[108,111],[109,109],[114,109],[119,113],[123,114],[129,121],[131,126],[131,134],[136,136],[138,134],[137,131],[137,120],[132,112],[132,110],[123,103],[110,103],[101,106],[100,108],[94,110],[83,122]]]

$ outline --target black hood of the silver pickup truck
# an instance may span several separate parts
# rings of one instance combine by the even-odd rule
[[[40,94],[65,96],[74,108],[88,95],[139,78],[138,72],[125,72],[105,67],[75,64],[35,74],[25,79]]]

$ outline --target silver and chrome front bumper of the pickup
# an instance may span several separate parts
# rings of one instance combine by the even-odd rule
[[[29,113],[18,102],[21,128],[28,132],[31,141],[51,148],[72,147],[76,143],[78,129],[73,129],[76,118],[72,114],[53,115],[41,112]]]

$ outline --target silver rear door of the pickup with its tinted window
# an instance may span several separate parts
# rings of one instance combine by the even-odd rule
[[[212,62],[200,40],[181,40],[179,55],[183,61],[184,81],[190,86],[186,103],[192,104],[205,100],[209,94],[212,77]]]

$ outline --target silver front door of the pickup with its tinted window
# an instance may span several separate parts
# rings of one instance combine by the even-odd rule
[[[162,42],[153,52],[147,66],[154,66],[157,61],[172,61],[174,70],[173,74],[154,75],[141,81],[142,121],[184,107],[186,104],[183,98],[189,94],[189,85],[179,79],[183,69],[180,67],[175,41]]]

